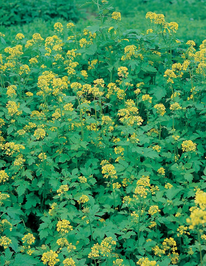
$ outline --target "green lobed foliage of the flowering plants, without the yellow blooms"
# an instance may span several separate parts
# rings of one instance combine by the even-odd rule
[[[10,196],[2,202],[1,219],[7,219],[12,225],[12,231],[6,228],[0,232],[12,242],[2,252],[1,266],[43,266],[41,256],[49,250],[58,252],[60,261],[55,265],[59,266],[63,266],[68,257],[75,261],[76,266],[111,266],[117,256],[125,266],[136,265],[141,257],[155,260],[159,266],[172,263],[202,266],[206,260],[206,247],[203,239],[198,242],[197,232],[204,234],[204,228],[187,229],[190,235],[181,237],[177,236],[177,229],[182,225],[188,226],[186,219],[190,216],[189,209],[195,206],[195,193],[206,187],[205,70],[196,73],[197,64],[188,57],[191,65],[174,80],[174,84],[168,83],[164,77],[165,70],[175,62],[183,63],[182,55],[188,56],[187,46],[177,43],[175,34],[160,34],[160,27],[156,25],[152,33],[145,35],[136,29],[121,31],[120,22],[111,19],[113,10],[109,4],[98,4],[98,9],[97,20],[101,24],[86,28],[93,35],[91,43],[87,39],[87,44],[81,47],[80,40],[87,36],[75,29],[68,31],[68,39],[64,38],[66,34],[61,36],[60,32],[55,32],[62,39],[63,48],[45,55],[44,42],[24,48],[25,39],[14,40],[12,46],[22,45],[23,55],[14,60],[14,67],[5,71],[1,68],[0,114],[4,123],[1,127],[0,163],[8,175],[8,180],[1,183],[1,193]],[[108,32],[111,26],[114,28]],[[122,60],[122,56],[127,55],[124,48],[128,45],[135,45],[136,51],[130,58]],[[74,60],[78,64],[74,72],[68,73],[64,62],[68,61],[67,51],[71,49],[76,49],[73,51]],[[55,61],[57,54],[62,57]],[[6,63],[8,53],[2,51],[2,57],[2,62]],[[29,65],[31,57],[36,57],[38,63]],[[96,63],[92,64],[93,60]],[[20,75],[20,67],[25,64],[29,65],[30,72]],[[42,64],[45,69],[41,68]],[[117,74],[121,66],[128,69],[125,78]],[[87,72],[87,78],[82,75],[82,70]],[[55,76],[44,88],[49,88],[49,92],[38,94],[38,77],[44,76],[44,71]],[[68,86],[56,95],[57,88],[52,86],[52,82],[65,76]],[[105,84],[97,86],[100,92],[104,92],[101,96],[86,94],[81,89],[78,94],[70,86],[79,82],[91,85],[94,90],[97,88],[94,80],[100,78]],[[106,97],[109,93],[107,85],[111,82],[117,90]],[[141,92],[136,95],[136,84],[140,82],[143,82]],[[129,84],[128,88],[126,84]],[[17,87],[16,95],[7,93],[10,85]],[[190,97],[191,85],[195,87],[193,97]],[[125,97],[118,96],[118,89],[123,90]],[[33,93],[33,96],[28,97],[26,92]],[[145,94],[152,97],[151,103],[145,103],[142,97]],[[142,124],[119,121],[118,111],[126,107],[124,100],[132,100],[138,106]],[[18,110],[22,114],[9,114],[8,101],[19,104]],[[66,103],[72,103],[74,110],[65,111],[63,106]],[[163,103],[166,108],[163,116],[158,115],[154,108],[158,103]],[[170,106],[173,103],[178,103],[182,109],[172,113]],[[53,119],[57,109],[61,110],[61,115]],[[109,127],[103,123],[103,116],[112,119]],[[36,127],[28,127],[29,123],[35,123]],[[37,126],[46,132],[39,139],[34,135]],[[22,129],[26,132],[18,134],[17,131]],[[175,140],[173,135],[178,135],[179,139]],[[182,151],[181,144],[185,140],[197,144],[195,152]],[[21,144],[25,149],[8,156],[5,144],[11,142]],[[160,152],[153,149],[157,144],[161,147]],[[124,149],[119,159],[115,147]],[[42,161],[38,157],[41,152],[46,155]],[[15,165],[18,156],[25,161]],[[104,177],[102,160],[114,165],[117,179]],[[161,167],[165,169],[165,175],[157,172]],[[81,176],[87,181],[80,182]],[[153,187],[148,188],[145,198],[139,196],[137,200],[133,195],[142,176],[149,176]],[[116,182],[121,187],[113,188]],[[167,183],[172,187],[166,188]],[[61,185],[68,186],[68,191],[57,192]],[[89,200],[79,204],[82,195]],[[130,196],[132,201],[123,203],[125,196]],[[53,203],[56,203],[54,208]],[[160,212],[150,215],[149,207],[154,205]],[[86,214],[83,207],[89,208]],[[138,221],[131,216],[133,211],[139,215]],[[70,253],[66,247],[60,249],[57,244],[62,237],[57,231],[57,223],[63,219],[69,220],[73,227],[63,235],[69,243],[76,245],[76,250]],[[157,225],[149,227],[151,222]],[[34,251],[31,255],[22,247],[22,238],[28,233],[36,238],[31,245]],[[109,259],[89,259],[92,245],[101,243],[105,237],[112,237],[117,242]],[[179,255],[175,258],[167,252],[162,256],[155,255],[152,249],[170,237],[176,241]]]

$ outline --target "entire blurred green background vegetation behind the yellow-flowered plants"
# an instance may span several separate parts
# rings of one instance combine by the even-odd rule
[[[87,1],[89,2],[89,0]],[[85,25],[95,25],[97,15],[95,7],[80,7],[84,0],[74,1],[0,1],[1,31],[7,32],[5,40],[11,43],[16,32],[31,36],[39,32],[43,38],[52,32],[56,21],[63,24],[69,20],[78,20],[78,29]],[[194,40],[197,45],[205,38],[206,1],[205,0],[111,0],[114,10],[121,12],[122,30],[137,28],[145,31],[148,24],[145,20],[147,11],[162,13],[168,21],[179,24],[177,38],[183,41]]]

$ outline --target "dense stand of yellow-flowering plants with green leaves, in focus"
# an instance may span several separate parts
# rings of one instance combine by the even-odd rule
[[[203,266],[206,40],[93,3],[0,54],[1,265]]]

